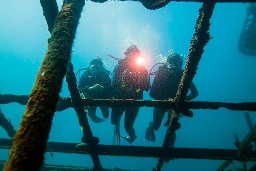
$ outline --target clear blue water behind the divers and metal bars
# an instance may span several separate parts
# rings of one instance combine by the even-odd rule
[[[62,2],[57,1],[60,8]],[[158,54],[166,56],[170,49],[186,55],[200,6],[200,3],[173,2],[150,11],[139,2],[109,1],[99,4],[86,1],[73,45],[75,71],[88,66],[95,55],[104,59],[107,53],[122,57],[131,44],[136,44],[147,56],[148,70],[156,63]],[[245,56],[237,49],[247,6],[243,3],[216,4],[210,27],[213,38],[204,48],[194,78],[199,91],[195,101],[256,101],[256,57]],[[0,6],[0,16],[0,92],[30,94],[50,36],[40,3],[34,0],[4,1]],[[117,64],[112,59],[106,62],[109,70]],[[60,96],[69,96],[65,82]],[[148,93],[144,93],[144,97],[151,99]],[[10,103],[1,108],[17,129],[25,106]],[[253,123],[256,123],[255,114],[250,112]],[[134,124],[137,139],[132,145],[162,146],[166,132],[164,126],[156,132],[155,143],[145,140],[145,130],[151,120],[152,108],[142,107]],[[110,119],[101,124],[89,122],[94,135],[100,137],[100,144],[111,145],[114,126]],[[194,110],[193,118],[183,117],[180,122],[182,125],[177,131],[175,147],[235,149],[233,133],[238,133],[239,139],[243,139],[249,132],[244,111]],[[125,133],[123,117],[120,125],[120,132]],[[73,109],[55,113],[49,141],[80,143],[81,136]],[[3,129],[0,129],[0,137],[8,138]],[[121,145],[129,144],[121,140]],[[0,151],[0,160],[7,160],[8,150]],[[152,170],[157,163],[155,158],[111,156],[100,156],[100,161],[104,168],[141,171]],[[163,171],[215,171],[222,162],[178,159],[165,163]],[[78,154],[54,153],[52,158],[45,153],[45,163],[92,167],[88,155]],[[251,164],[248,163],[248,166]],[[229,168],[234,166],[242,167],[241,163],[234,162]]]

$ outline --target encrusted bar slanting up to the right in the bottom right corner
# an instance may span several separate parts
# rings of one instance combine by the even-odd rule
[[[247,136],[243,139],[243,141],[241,141],[237,149],[237,154],[236,154],[237,158],[240,158],[241,156],[246,155],[248,152],[250,152],[250,150],[248,150],[248,146],[255,138],[256,138],[256,125],[254,126],[252,131],[250,131],[247,134]],[[222,163],[222,165],[220,165],[217,171],[224,171],[228,167],[228,165],[230,165],[231,163],[232,163],[232,160],[225,161],[224,163]]]

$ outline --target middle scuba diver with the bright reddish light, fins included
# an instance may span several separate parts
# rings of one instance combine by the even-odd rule
[[[116,58],[119,62],[113,70],[113,97],[114,99],[143,99],[143,91],[149,91],[150,84],[141,53],[135,45],[132,45],[124,54],[124,59]],[[114,145],[120,145],[119,123],[124,111],[124,128],[129,136],[125,137],[121,134],[121,137],[130,144],[137,138],[133,125],[139,113],[139,107],[113,108],[111,123],[115,125]]]

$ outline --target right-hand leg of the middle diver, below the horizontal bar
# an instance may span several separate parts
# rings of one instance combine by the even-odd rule
[[[139,107],[129,107],[129,108],[126,108],[126,111],[125,111],[124,128],[130,137],[124,137],[124,138],[129,143],[132,143],[137,138],[133,125],[138,113],[139,113]]]

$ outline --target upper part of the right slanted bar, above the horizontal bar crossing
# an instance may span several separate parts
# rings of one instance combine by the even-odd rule
[[[196,75],[198,64],[203,54],[203,48],[211,39],[209,34],[210,19],[213,14],[215,2],[206,0],[199,9],[199,15],[196,21],[196,26],[192,39],[190,40],[190,47],[186,66],[184,68],[183,76],[177,90],[174,101],[177,103],[177,109],[182,110],[181,106],[186,99],[188,89],[192,83],[192,79]]]

